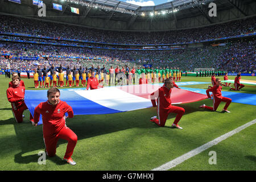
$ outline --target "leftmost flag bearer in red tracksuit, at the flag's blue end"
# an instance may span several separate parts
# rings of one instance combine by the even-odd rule
[[[14,118],[17,123],[23,122],[23,111],[28,109],[24,102],[25,88],[20,85],[20,77],[14,76],[12,86],[6,90],[7,99],[11,102],[11,108],[13,110]],[[30,121],[33,121],[33,117],[30,114]]]

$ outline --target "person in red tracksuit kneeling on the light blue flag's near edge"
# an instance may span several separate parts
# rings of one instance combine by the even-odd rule
[[[228,109],[228,106],[230,105],[230,103],[232,102],[232,99],[227,98],[227,97],[222,97],[221,89],[222,89],[221,80],[220,80],[220,78],[216,78],[216,85],[214,85],[212,88],[206,90],[208,98],[211,98],[209,92],[213,93],[213,107],[206,106],[205,104],[203,104],[199,107],[216,111],[218,108],[218,105],[220,105],[221,102],[226,102],[226,105],[224,106],[223,111],[225,111],[226,113],[230,113],[230,111],[228,111],[227,109]]]

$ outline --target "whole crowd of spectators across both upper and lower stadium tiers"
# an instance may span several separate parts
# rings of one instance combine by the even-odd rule
[[[129,67],[139,67],[143,64],[151,64],[155,67],[179,67],[183,70],[193,71],[195,68],[214,68],[229,72],[254,72],[255,70],[255,40],[238,40],[228,43],[226,46],[202,46],[197,48],[184,48],[162,51],[142,51],[135,50],[111,50],[107,48],[117,48],[106,44],[93,44],[81,42],[69,42],[61,40],[80,39],[98,43],[114,44],[171,44],[194,42],[198,40],[220,38],[246,34],[255,31],[255,18],[236,20],[224,24],[216,24],[203,28],[193,28],[189,30],[176,30],[165,32],[118,32],[93,30],[89,28],[71,26],[67,24],[42,22],[17,18],[13,16],[0,16],[0,31],[19,32],[36,36],[50,36],[56,39],[28,38],[26,36],[0,35],[0,39],[35,41],[40,43],[65,43],[78,46],[95,46],[93,48],[82,48],[72,46],[53,46],[35,43],[14,43],[0,41],[0,53],[10,54],[8,57],[1,57],[0,66],[11,67],[12,69],[35,68],[35,64],[46,65],[62,64],[64,67],[73,65],[90,67],[92,64],[112,65],[119,67],[128,65]],[[100,47],[98,47],[100,46]],[[98,47],[98,48],[96,48]],[[37,60],[17,59],[19,56],[39,57]],[[47,59],[43,56],[49,56]],[[80,58],[51,56],[76,56]],[[82,59],[81,57],[90,57]],[[7,59],[6,59],[7,58]]]

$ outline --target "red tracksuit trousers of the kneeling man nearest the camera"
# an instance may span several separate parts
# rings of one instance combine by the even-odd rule
[[[68,140],[68,146],[64,158],[69,159],[71,158],[76,147],[77,135],[67,126],[64,126],[59,133],[53,136],[44,136],[44,144],[46,145],[47,155],[54,156],[56,154],[56,146],[60,138]]]

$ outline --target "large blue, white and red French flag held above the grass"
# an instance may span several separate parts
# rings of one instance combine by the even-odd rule
[[[152,107],[150,94],[160,85],[126,85],[96,90],[60,89],[60,100],[73,108],[75,115],[111,114]],[[172,104],[184,104],[206,99],[205,94],[173,88]],[[28,110],[34,115],[35,107],[47,101],[47,90],[26,90],[24,99]],[[39,124],[42,123],[40,119]]]

